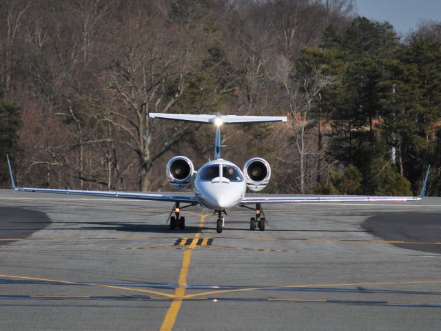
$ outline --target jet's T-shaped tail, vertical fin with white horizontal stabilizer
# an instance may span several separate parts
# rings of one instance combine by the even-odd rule
[[[214,159],[222,159],[222,143],[220,139],[220,126],[223,124],[243,124],[243,123],[265,123],[265,122],[286,122],[285,116],[239,116],[222,115],[218,112],[216,115],[207,114],[161,114],[151,112],[149,117],[152,119],[171,119],[174,121],[196,122],[214,124],[216,126],[216,136],[214,139]]]

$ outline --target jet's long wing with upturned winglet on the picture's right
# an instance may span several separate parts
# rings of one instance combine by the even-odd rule
[[[420,197],[381,197],[381,196],[361,196],[361,195],[323,195],[323,196],[275,196],[274,194],[263,196],[244,197],[240,205],[253,203],[319,203],[319,202],[351,202],[351,201],[418,201],[424,198],[426,192],[427,180],[429,179],[430,165],[427,168],[426,177],[422,184]]]

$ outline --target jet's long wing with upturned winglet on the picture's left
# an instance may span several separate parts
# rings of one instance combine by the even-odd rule
[[[154,201],[170,201],[199,204],[198,200],[191,195],[173,195],[173,194],[154,194],[143,192],[112,192],[112,191],[83,191],[83,190],[57,190],[52,188],[17,188],[15,185],[14,176],[8,158],[8,167],[11,178],[11,186],[13,190],[22,192],[40,192],[40,193],[56,193],[56,194],[74,194],[87,195],[92,197],[108,197],[108,198],[122,198],[122,199],[136,199],[136,200],[154,200]]]

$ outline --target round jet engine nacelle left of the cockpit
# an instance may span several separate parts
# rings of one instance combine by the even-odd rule
[[[176,190],[183,190],[192,183],[194,166],[188,157],[172,157],[165,168],[170,185]]]

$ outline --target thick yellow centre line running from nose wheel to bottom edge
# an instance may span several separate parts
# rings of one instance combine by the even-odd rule
[[[161,325],[160,331],[171,331],[173,329],[174,323],[176,323],[176,318],[178,317],[179,310],[181,310],[181,305],[183,299],[185,299],[185,287],[187,286],[187,276],[190,267],[190,262],[192,260],[192,252],[196,248],[196,243],[201,237],[201,230],[205,223],[205,218],[210,214],[201,215],[201,221],[199,222],[198,231],[194,234],[192,243],[185,246],[187,249],[183,253],[181,271],[179,272],[178,287],[174,292],[174,299],[170,308],[168,308],[165,314],[164,321]]]

